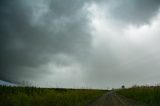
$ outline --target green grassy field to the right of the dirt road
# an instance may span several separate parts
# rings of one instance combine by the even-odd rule
[[[135,86],[117,91],[120,95],[143,102],[149,106],[160,106],[160,86]]]

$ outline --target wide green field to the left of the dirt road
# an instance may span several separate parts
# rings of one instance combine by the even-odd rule
[[[85,106],[104,90],[0,86],[0,106]]]

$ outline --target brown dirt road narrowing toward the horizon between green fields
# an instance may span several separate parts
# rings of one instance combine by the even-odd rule
[[[117,95],[115,92],[111,91],[88,106],[146,106],[139,104],[133,100],[127,99],[125,97]]]

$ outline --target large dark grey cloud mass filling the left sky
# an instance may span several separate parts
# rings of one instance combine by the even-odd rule
[[[57,54],[83,55],[88,20],[77,0],[0,2],[0,79],[21,82],[48,72],[36,69]]]

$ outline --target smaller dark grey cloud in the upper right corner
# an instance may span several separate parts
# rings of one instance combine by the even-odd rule
[[[97,1],[98,2],[98,1]],[[106,8],[112,18],[127,23],[149,23],[160,6],[159,0],[102,0],[101,5]]]

